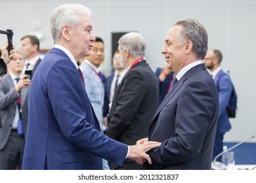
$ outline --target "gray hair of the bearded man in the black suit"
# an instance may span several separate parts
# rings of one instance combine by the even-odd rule
[[[121,50],[129,50],[130,54],[135,58],[145,56],[146,42],[139,33],[130,32],[123,35],[118,44]]]

